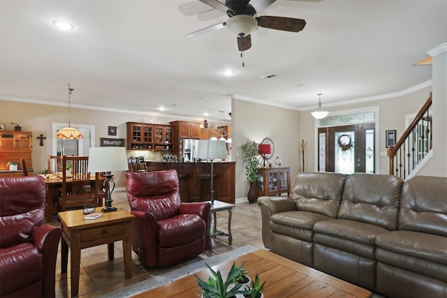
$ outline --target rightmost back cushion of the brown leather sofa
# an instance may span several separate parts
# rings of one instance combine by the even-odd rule
[[[399,230],[447,237],[447,178],[415,176],[404,182]]]

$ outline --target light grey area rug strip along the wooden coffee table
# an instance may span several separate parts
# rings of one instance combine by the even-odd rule
[[[142,292],[146,292],[147,290],[151,290],[161,285],[165,285],[166,283],[175,281],[184,276],[189,276],[191,274],[195,274],[198,271],[202,271],[203,269],[206,268],[205,263],[207,263],[210,266],[219,265],[223,262],[227,262],[228,260],[234,260],[235,258],[239,258],[241,255],[247,255],[247,253],[257,251],[258,249],[259,249],[258,247],[251,245],[235,248],[232,251],[227,251],[226,253],[213,255],[210,258],[198,260],[197,262],[186,265],[179,269],[175,269],[174,271],[169,271],[168,273],[160,276],[154,276],[153,278],[149,278],[146,281],[140,281],[140,283],[129,285],[129,287],[122,288],[115,292],[107,293],[105,295],[102,295],[101,297],[104,298],[132,297]]]

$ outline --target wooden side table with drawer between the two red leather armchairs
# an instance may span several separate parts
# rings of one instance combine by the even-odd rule
[[[96,208],[101,212],[101,207]],[[61,271],[66,273],[68,247],[71,249],[71,296],[78,296],[81,249],[108,244],[108,259],[113,260],[113,243],[123,241],[124,276],[132,277],[132,218],[129,212],[118,209],[103,212],[96,219],[84,219],[82,209],[59,212],[62,228]]]

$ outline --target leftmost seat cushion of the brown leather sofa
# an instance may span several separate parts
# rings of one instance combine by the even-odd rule
[[[329,218],[323,214],[307,211],[281,212],[270,217],[270,230],[277,234],[312,242],[314,224]]]

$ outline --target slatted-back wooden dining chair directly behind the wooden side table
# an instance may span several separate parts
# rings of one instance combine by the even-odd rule
[[[80,208],[85,204],[97,204],[97,182],[94,186],[88,172],[88,156],[63,156],[62,165],[71,165],[72,177],[62,171],[62,195],[59,197],[59,211]]]

